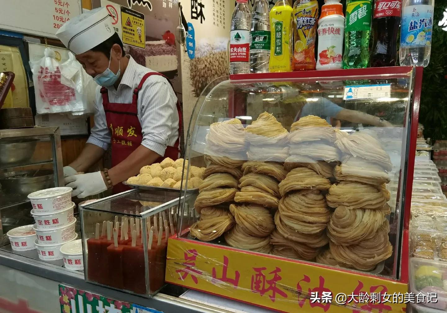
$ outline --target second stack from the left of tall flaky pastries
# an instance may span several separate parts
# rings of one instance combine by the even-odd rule
[[[271,210],[278,209],[279,182],[286,177],[282,163],[288,156],[287,130],[270,113],[264,112],[245,129],[249,144],[239,179],[240,191],[230,212],[236,226],[224,235],[228,245],[270,253],[270,234],[275,228]]]

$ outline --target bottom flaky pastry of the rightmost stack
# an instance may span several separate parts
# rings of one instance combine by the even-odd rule
[[[329,243],[330,252],[335,260],[361,271],[371,271],[376,265],[392,255],[392,246],[388,240],[389,225],[384,222],[375,236],[362,240],[358,244],[340,246]]]

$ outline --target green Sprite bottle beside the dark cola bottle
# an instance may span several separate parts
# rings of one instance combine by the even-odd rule
[[[365,68],[369,63],[372,0],[347,0],[343,68]]]

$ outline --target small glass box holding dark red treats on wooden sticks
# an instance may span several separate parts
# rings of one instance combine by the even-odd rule
[[[178,192],[133,189],[80,204],[85,280],[153,296],[164,285]]]

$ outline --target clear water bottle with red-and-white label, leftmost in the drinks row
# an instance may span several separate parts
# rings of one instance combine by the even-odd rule
[[[250,10],[248,0],[236,0],[231,17],[230,74],[250,73]]]

